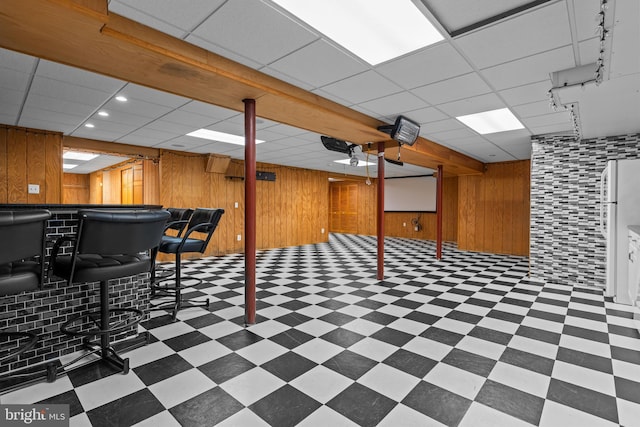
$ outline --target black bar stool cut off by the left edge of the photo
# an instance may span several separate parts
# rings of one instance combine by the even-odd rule
[[[47,210],[0,212],[0,297],[42,287]],[[0,332],[0,363],[32,349],[38,336],[29,331]]]

